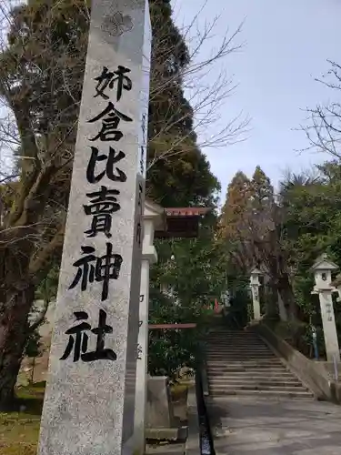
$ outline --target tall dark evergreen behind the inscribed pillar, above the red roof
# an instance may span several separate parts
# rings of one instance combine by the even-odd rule
[[[184,37],[172,19],[170,0],[150,3],[152,41],[147,194],[164,207],[205,206],[219,184],[196,145],[193,111],[182,72],[190,64]]]

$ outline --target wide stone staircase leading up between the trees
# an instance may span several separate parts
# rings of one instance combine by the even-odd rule
[[[206,367],[213,397],[314,397],[252,331],[216,328],[206,340]]]

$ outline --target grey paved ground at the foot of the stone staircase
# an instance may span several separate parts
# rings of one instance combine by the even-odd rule
[[[207,399],[216,455],[340,455],[341,406],[314,399]]]

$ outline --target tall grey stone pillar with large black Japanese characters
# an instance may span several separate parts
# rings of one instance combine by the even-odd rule
[[[133,434],[145,172],[139,140],[147,102],[141,91],[148,8],[142,0],[93,0],[91,11],[39,455],[119,455],[128,452]],[[131,87],[125,79],[121,96],[115,74],[112,84],[101,89],[107,81],[101,76],[118,66],[130,70],[125,76]],[[121,151],[125,156],[118,159]],[[111,227],[91,232],[98,201],[90,194],[102,191],[103,196],[104,187],[119,191],[105,197]],[[85,206],[93,208],[86,213]],[[117,256],[110,260],[106,292],[104,257],[110,248]],[[78,268],[75,261],[88,255],[94,258],[86,274],[85,266]],[[77,271],[83,276],[75,283]],[[88,279],[82,290],[84,275]],[[102,329],[94,331],[100,322],[106,325],[104,339]],[[65,333],[81,323],[84,330],[78,336]],[[96,357],[100,353],[101,359],[86,358],[89,352]]]

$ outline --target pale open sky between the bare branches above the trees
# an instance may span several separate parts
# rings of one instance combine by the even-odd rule
[[[200,5],[198,0],[176,0],[176,22],[188,24]],[[287,167],[299,171],[323,159],[296,152],[307,142],[294,129],[304,120],[306,106],[329,97],[330,91],[314,78],[326,73],[326,59],[341,62],[341,0],[207,0],[202,21],[217,13],[211,45],[225,35],[227,25],[233,31],[244,19],[238,41],[246,42],[224,62],[239,86],[221,116],[228,122],[243,110],[252,117],[245,142],[205,150],[225,195],[238,169],[250,175],[259,164],[276,183]]]

